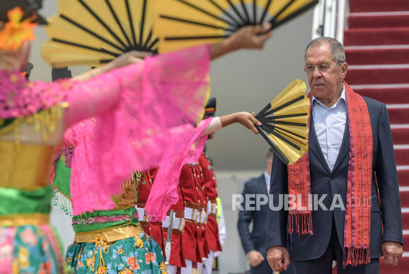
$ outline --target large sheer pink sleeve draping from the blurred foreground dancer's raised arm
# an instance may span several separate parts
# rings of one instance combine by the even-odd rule
[[[92,156],[86,155],[87,148],[76,146],[74,151],[70,183],[74,215],[113,208],[110,197],[120,192],[130,171],[157,165],[171,145],[170,128],[199,117],[209,65],[209,47],[200,46],[73,84],[66,125],[94,115],[96,120]]]

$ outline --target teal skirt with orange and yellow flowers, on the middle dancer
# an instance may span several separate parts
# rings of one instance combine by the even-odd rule
[[[160,245],[145,233],[109,245],[99,238],[68,246],[75,274],[167,274]]]

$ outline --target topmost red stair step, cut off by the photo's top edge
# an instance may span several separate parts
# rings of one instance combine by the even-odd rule
[[[350,12],[408,11],[408,0],[349,0]]]

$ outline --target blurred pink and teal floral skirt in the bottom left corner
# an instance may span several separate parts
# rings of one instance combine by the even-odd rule
[[[0,227],[0,274],[67,272],[61,244],[49,225]]]

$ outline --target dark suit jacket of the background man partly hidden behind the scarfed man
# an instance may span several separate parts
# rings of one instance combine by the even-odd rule
[[[244,201],[241,203],[243,209],[245,206],[245,195],[246,194],[264,194],[269,195],[267,192],[266,179],[264,174],[256,179],[252,179],[244,184],[243,197]],[[256,201],[256,198],[250,198],[251,201]],[[251,204],[249,206],[255,206]],[[268,203],[266,205],[260,206],[260,210],[240,210],[239,211],[239,222],[237,223],[237,228],[239,230],[239,235],[241,243],[244,248],[244,252],[247,253],[251,250],[257,250],[263,254],[264,258],[267,257],[266,248],[266,234],[267,234],[267,211]],[[253,231],[250,233],[249,224],[253,220]]]

